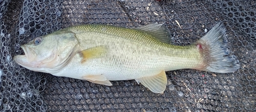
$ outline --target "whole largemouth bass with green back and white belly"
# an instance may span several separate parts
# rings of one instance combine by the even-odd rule
[[[112,86],[113,80],[133,80],[154,93],[165,91],[166,71],[197,69],[230,73],[240,68],[227,48],[221,22],[195,43],[170,42],[166,26],[136,28],[83,24],[36,37],[22,45],[24,55],[13,60],[29,70]]]

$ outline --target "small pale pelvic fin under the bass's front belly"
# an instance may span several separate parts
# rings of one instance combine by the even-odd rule
[[[100,85],[112,86],[112,83],[104,75],[87,75],[82,78]]]

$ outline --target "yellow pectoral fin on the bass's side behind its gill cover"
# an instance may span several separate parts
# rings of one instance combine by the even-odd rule
[[[87,59],[99,58],[106,53],[106,48],[104,46],[97,46],[82,50],[80,52],[83,55],[81,63],[85,62]]]

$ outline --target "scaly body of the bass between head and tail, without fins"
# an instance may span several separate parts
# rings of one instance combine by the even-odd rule
[[[57,76],[65,73],[67,73],[65,76],[69,76],[70,69],[68,68],[79,68],[72,72],[76,71],[77,74],[81,74],[79,76],[81,79],[86,73],[105,74],[109,80],[130,80],[138,75],[141,77],[156,75],[162,70],[195,68],[201,63],[200,54],[194,48],[196,46],[175,46],[163,43],[144,32],[122,27],[109,25],[84,25],[81,27],[84,27],[82,32],[77,32],[77,29],[81,29],[79,26],[67,29],[76,34],[80,42],[78,51],[100,47],[106,52],[100,58],[89,59],[83,63],[79,63],[83,57],[77,54],[66,66],[67,71],[58,72]],[[111,30],[118,28],[119,30],[116,30],[115,33],[111,33]],[[134,32],[134,35],[131,35],[131,32]],[[136,37],[136,35],[144,36]]]

